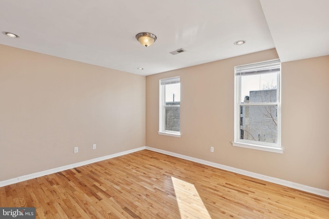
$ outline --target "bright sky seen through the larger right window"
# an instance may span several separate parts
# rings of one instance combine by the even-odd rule
[[[245,75],[241,77],[241,103],[250,91],[270,90],[277,88],[277,73]]]

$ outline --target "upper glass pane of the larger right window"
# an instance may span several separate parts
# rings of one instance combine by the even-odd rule
[[[277,102],[277,73],[241,76],[241,103]]]

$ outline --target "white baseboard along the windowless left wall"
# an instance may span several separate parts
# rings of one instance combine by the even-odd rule
[[[72,169],[72,168],[76,168],[76,167],[81,167],[81,166],[84,166],[84,165],[87,165],[87,164],[92,164],[92,163],[96,163],[96,162],[99,162],[99,161],[104,161],[104,160],[107,160],[107,159],[110,159],[110,158],[113,158],[113,157],[122,156],[122,155],[125,155],[125,154],[130,154],[130,153],[140,151],[140,150],[144,150],[144,149],[145,149],[145,146],[140,147],[140,148],[135,148],[135,149],[132,149],[132,150],[127,150],[127,151],[115,153],[115,154],[110,154],[110,155],[107,155],[107,156],[97,157],[97,158],[94,158],[94,159],[88,160],[88,161],[83,161],[83,162],[79,162],[79,163],[75,163],[75,164],[69,164],[69,165],[66,165],[66,166],[57,167],[57,168],[53,168],[53,169],[50,169],[50,170],[45,170],[45,171],[41,171],[41,172],[36,172],[36,173],[28,174],[28,175],[19,176],[19,177],[16,177],[16,178],[11,178],[10,180],[1,181],[0,182],[0,187],[8,186],[8,185],[11,185],[11,184],[14,184],[14,183],[23,182],[23,181],[26,181],[26,180],[31,180],[32,178],[48,175],[48,174],[51,174],[51,173],[57,173],[57,172],[60,172],[60,171],[64,171],[64,170],[68,170],[68,169]]]

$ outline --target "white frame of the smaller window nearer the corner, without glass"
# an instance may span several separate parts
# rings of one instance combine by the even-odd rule
[[[180,131],[165,130],[166,85],[180,83],[180,76],[160,79],[159,81],[159,131],[158,134],[180,137]],[[180,91],[179,91],[180,92]],[[167,106],[168,107],[168,106]],[[171,106],[179,107],[179,106]]]

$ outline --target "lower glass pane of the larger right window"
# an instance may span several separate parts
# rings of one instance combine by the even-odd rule
[[[277,105],[243,106],[240,113],[240,139],[277,143]]]

